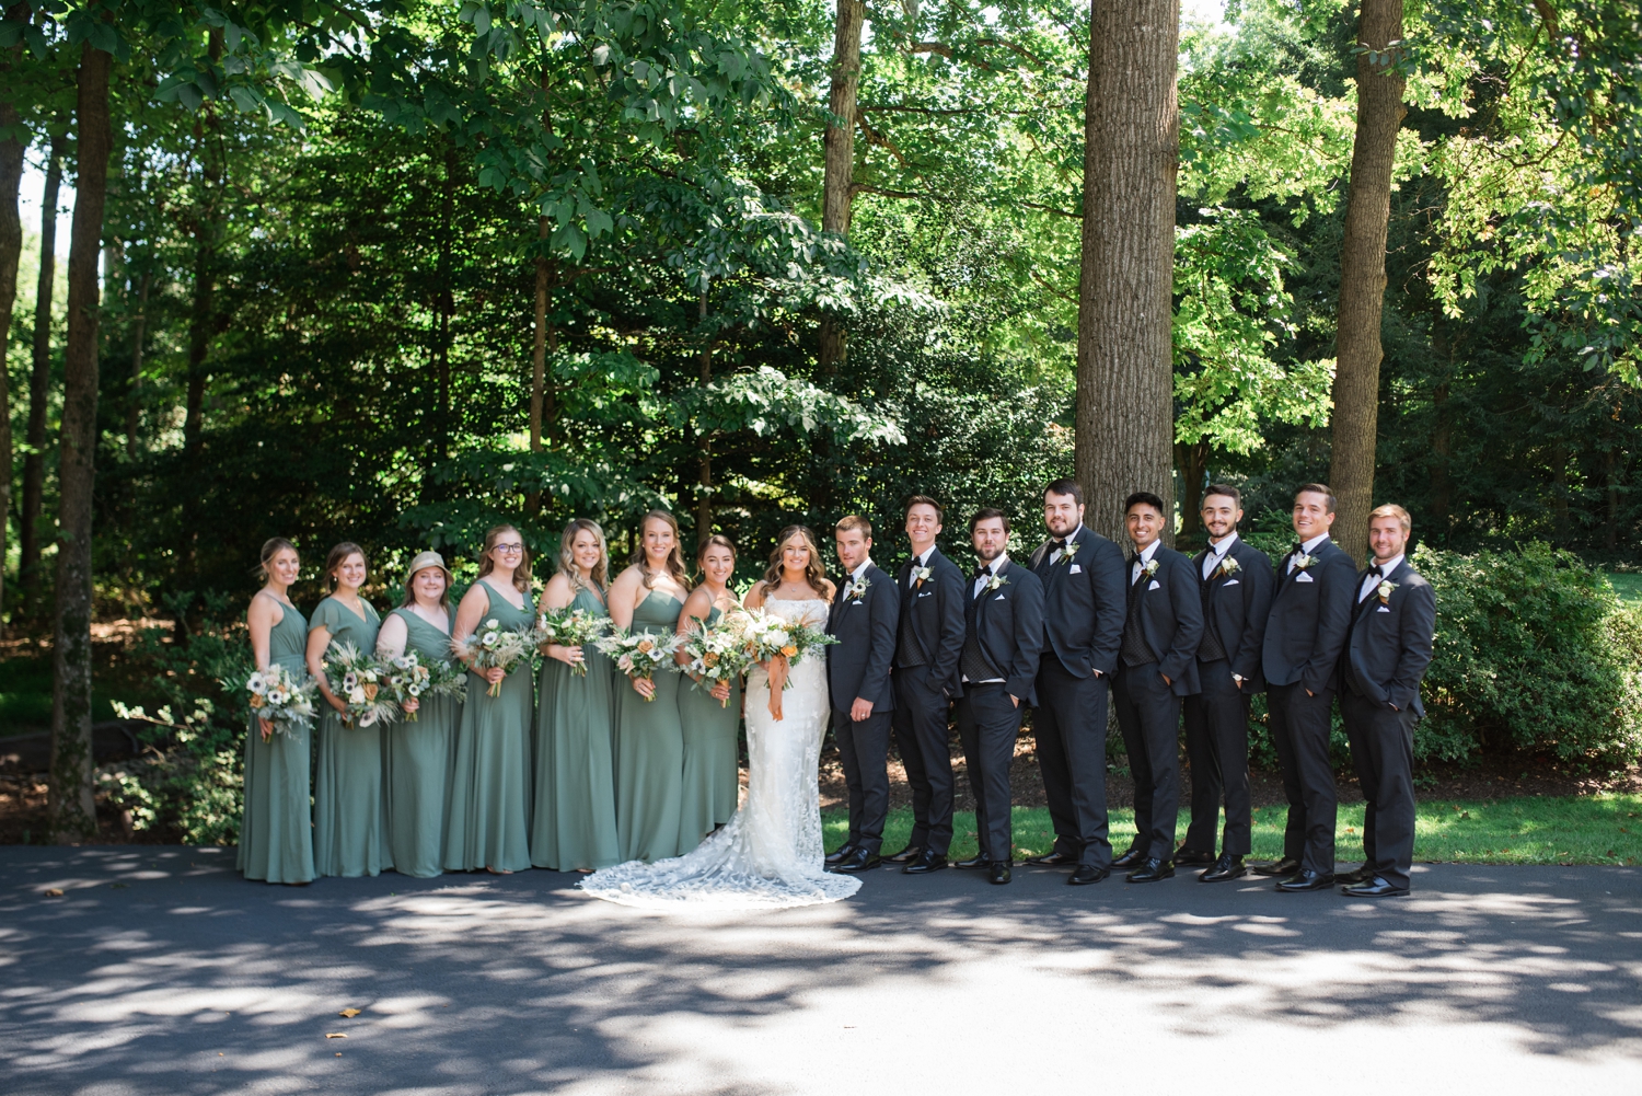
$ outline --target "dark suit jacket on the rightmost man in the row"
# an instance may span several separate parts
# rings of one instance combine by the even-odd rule
[[[1358,590],[1366,577],[1368,570],[1356,577]],[[1414,708],[1414,713],[1424,718],[1420,679],[1425,677],[1425,667],[1432,661],[1437,593],[1417,570],[1409,567],[1407,559],[1384,580],[1392,585],[1384,600],[1376,590],[1356,606],[1342,670],[1348,675],[1346,684],[1355,685],[1365,697],[1392,703],[1404,711]]]

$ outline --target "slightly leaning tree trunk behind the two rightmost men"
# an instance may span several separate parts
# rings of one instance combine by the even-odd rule
[[[1386,301],[1386,222],[1404,77],[1392,67],[1402,39],[1402,0],[1363,0],[1358,20],[1356,140],[1340,245],[1340,327],[1335,338],[1330,486],[1340,500],[1335,544],[1358,564],[1368,554],[1379,429],[1379,317]]]

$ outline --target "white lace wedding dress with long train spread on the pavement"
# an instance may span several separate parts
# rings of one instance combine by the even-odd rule
[[[828,603],[768,600],[767,613],[826,619]],[[791,669],[782,721],[770,715],[770,679],[747,674],[747,799],[741,810],[685,856],[629,861],[581,881],[594,897],[650,909],[787,909],[837,902],[860,879],[823,869],[821,738],[831,702],[824,649]]]

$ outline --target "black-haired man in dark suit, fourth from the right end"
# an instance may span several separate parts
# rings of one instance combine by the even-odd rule
[[[1197,572],[1163,544],[1163,500],[1135,491],[1123,524],[1135,554],[1128,565],[1128,610],[1112,682],[1118,728],[1135,774],[1135,843],[1112,861],[1130,882],[1174,876],[1174,820],[1181,807],[1181,697],[1195,693],[1204,595]]]

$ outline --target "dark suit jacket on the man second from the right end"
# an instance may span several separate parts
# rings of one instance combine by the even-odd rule
[[[1317,546],[1310,567],[1286,573],[1292,555],[1294,550],[1277,560],[1261,670],[1269,685],[1299,684],[1320,693],[1338,687],[1340,652],[1356,600],[1356,565],[1332,539]]]

